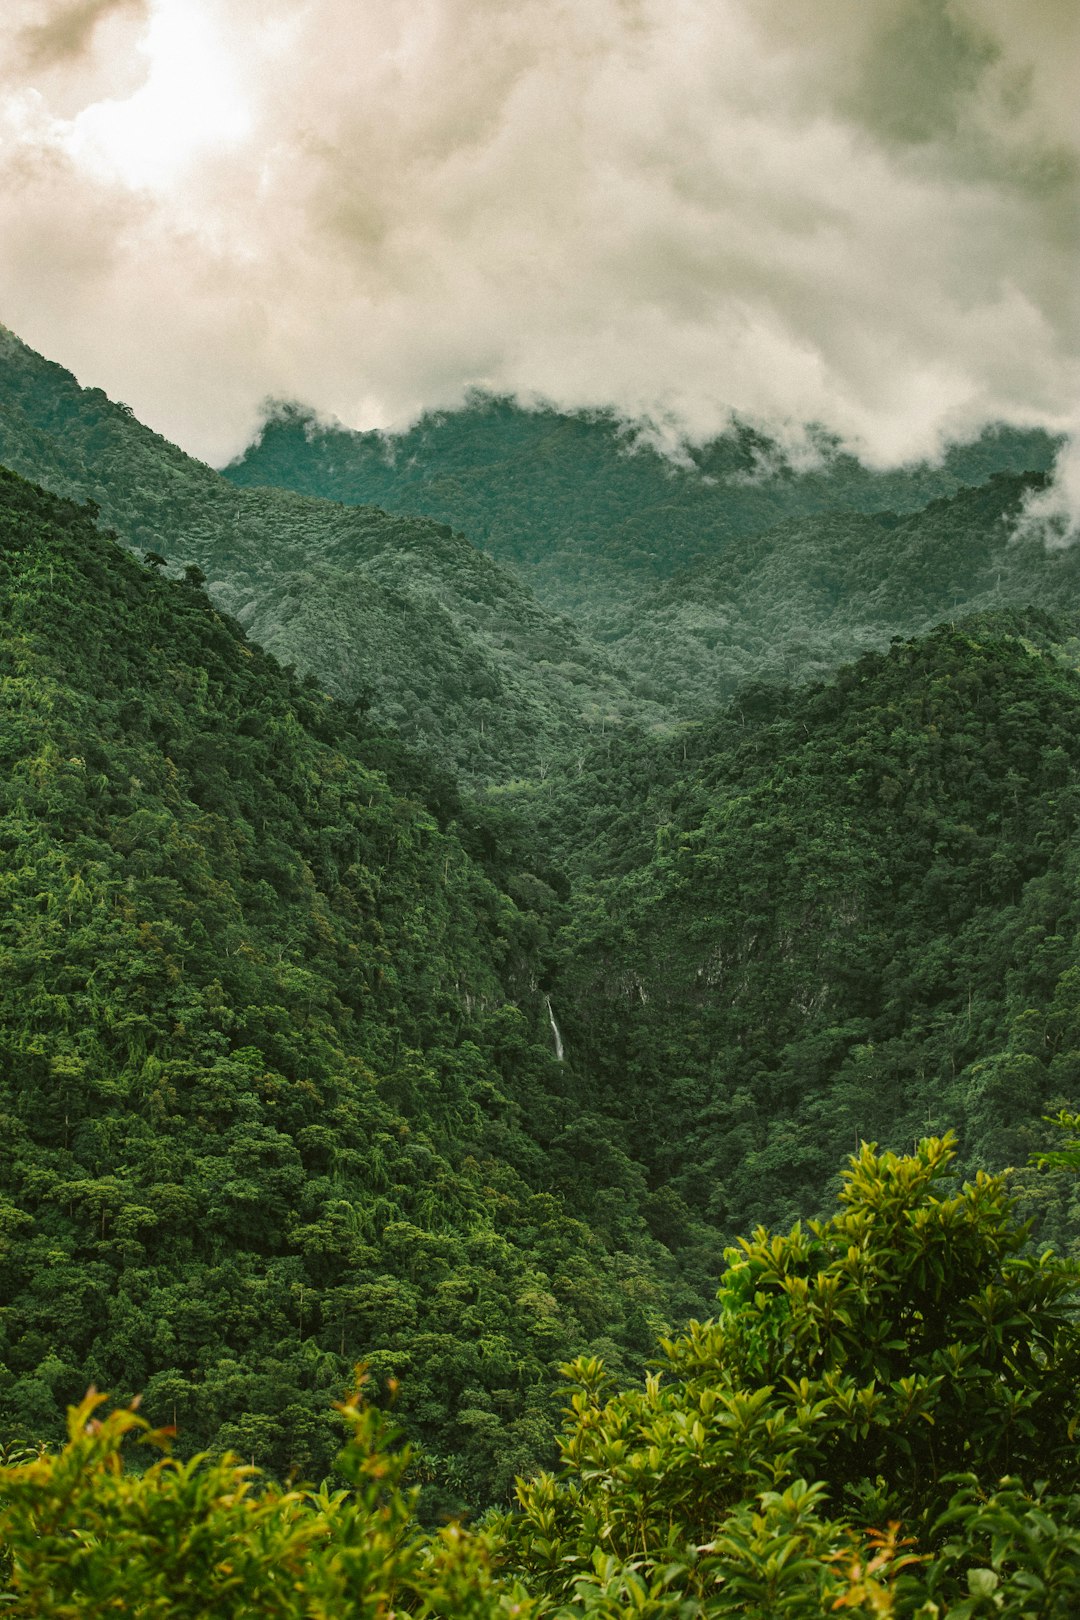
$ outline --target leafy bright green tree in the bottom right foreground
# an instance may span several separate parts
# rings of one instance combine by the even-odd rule
[[[665,1341],[667,1375],[644,1388],[615,1393],[596,1359],[565,1369],[563,1479],[520,1486],[505,1521],[534,1583],[597,1607],[638,1591],[816,1615],[874,1557],[887,1583],[910,1580],[907,1536],[949,1589],[970,1562],[963,1536],[946,1557],[950,1528],[993,1539],[983,1510],[1004,1476],[1031,1511],[1075,1489],[1075,1273],[1023,1254],[1006,1179],[957,1187],[952,1157],[950,1137],[910,1157],[863,1147],[836,1215],[729,1249],[716,1319]],[[1057,1502],[1065,1542],[1078,1507]],[[769,1586],[777,1558],[790,1568]]]

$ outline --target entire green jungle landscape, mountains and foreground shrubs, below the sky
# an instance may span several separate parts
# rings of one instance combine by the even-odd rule
[[[517,488],[541,586],[576,488],[612,658],[457,517],[233,489],[0,366],[53,491],[0,471],[11,1612],[1075,1614],[1049,442],[882,483],[421,424],[400,499],[444,450],[463,512]]]

